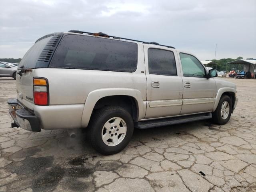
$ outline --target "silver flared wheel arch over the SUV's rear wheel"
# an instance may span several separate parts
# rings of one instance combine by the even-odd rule
[[[143,101],[142,93],[139,90],[131,88],[98,89],[90,92],[86,98],[81,126],[88,126],[94,109],[106,105],[118,105],[126,108],[131,113],[134,122],[144,118],[146,113],[146,102]]]

